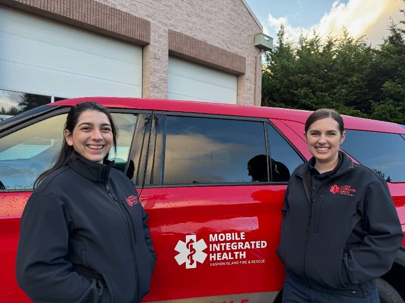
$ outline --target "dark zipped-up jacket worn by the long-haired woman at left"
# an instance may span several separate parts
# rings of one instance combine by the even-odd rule
[[[139,302],[149,291],[148,216],[111,166],[77,155],[28,199],[16,276],[34,302]]]

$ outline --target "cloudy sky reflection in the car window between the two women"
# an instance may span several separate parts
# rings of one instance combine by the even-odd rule
[[[169,116],[163,182],[252,182],[248,162],[258,155],[266,157],[262,122]]]

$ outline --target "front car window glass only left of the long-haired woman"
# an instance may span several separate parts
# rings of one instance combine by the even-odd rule
[[[0,189],[32,188],[62,146],[66,115],[32,124],[0,139]]]

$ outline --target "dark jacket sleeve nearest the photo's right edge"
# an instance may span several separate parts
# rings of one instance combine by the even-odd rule
[[[385,180],[370,184],[363,199],[366,236],[343,255],[344,282],[362,283],[384,275],[402,241],[402,229]]]

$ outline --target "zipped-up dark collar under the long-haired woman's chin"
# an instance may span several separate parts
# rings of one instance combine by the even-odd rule
[[[109,172],[114,165],[114,161],[106,161],[105,164],[90,161],[82,155],[76,153],[74,160],[68,163],[69,167],[79,175],[93,182],[106,183],[108,181]]]

